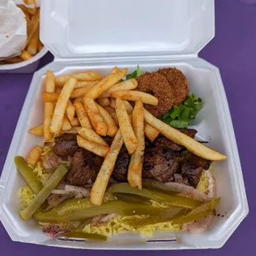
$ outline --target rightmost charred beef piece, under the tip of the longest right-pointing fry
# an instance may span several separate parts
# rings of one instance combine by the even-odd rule
[[[196,154],[192,154],[186,150],[181,159],[180,171],[183,178],[187,178],[189,185],[197,187],[202,171],[209,169],[210,165],[210,160],[202,159]]]

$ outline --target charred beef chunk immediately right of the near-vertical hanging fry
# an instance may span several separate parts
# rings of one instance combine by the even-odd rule
[[[173,178],[178,168],[178,157],[172,149],[155,147],[145,149],[142,177],[150,178],[160,183],[166,183]]]

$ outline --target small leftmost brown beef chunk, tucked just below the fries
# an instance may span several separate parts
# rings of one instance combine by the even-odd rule
[[[76,135],[64,134],[55,138],[54,152],[59,156],[73,156],[78,149]]]

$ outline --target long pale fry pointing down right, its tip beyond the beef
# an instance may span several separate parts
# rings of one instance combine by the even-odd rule
[[[197,140],[192,139],[191,137],[183,134],[179,130],[174,129],[171,126],[168,126],[163,121],[160,121],[158,118],[154,117],[144,109],[145,121],[150,125],[159,130],[159,132],[166,136],[169,140],[173,140],[178,145],[183,145],[193,154],[197,154],[202,159],[208,159],[212,161],[225,160],[226,156],[220,154],[212,149],[207,148],[205,145],[201,144]]]

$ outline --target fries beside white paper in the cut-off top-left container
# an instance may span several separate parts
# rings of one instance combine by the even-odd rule
[[[40,7],[36,7],[35,0],[24,0],[27,5],[33,5],[34,7],[26,7],[25,5],[18,5],[22,12],[25,14],[26,18],[26,45],[21,50],[21,55],[17,57],[12,57],[9,59],[4,59],[0,64],[14,64],[24,61],[26,59],[31,59],[35,56],[44,45],[39,39],[39,27],[40,27]]]

